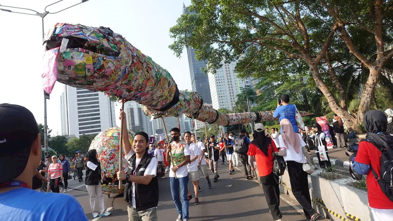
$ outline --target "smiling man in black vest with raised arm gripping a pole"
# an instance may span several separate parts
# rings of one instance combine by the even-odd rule
[[[121,118],[125,118],[123,110],[120,110]],[[123,127],[127,128],[125,120]],[[130,166],[127,173],[123,170],[118,172],[118,179],[127,180],[124,201],[127,204],[129,221],[158,220],[158,177],[156,176],[158,161],[156,157],[147,154],[148,147],[147,133],[137,133],[131,149],[128,132],[123,131],[123,149]]]

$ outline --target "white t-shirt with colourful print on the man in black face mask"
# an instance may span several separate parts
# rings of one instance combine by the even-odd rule
[[[173,158],[174,164],[177,166],[181,162],[184,161],[185,156],[190,155],[189,146],[185,143],[184,140],[178,142],[171,143],[171,157]],[[169,170],[169,177],[174,177],[174,172],[172,171],[173,164],[171,163],[171,169]],[[188,176],[188,169],[186,166],[182,166],[176,170],[176,177],[187,177]]]

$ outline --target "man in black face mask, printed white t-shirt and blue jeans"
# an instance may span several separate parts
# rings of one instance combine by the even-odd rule
[[[167,155],[165,157],[167,162],[174,163],[174,165],[171,163],[169,181],[172,199],[179,214],[176,221],[188,221],[187,184],[189,177],[186,165],[190,162],[190,149],[184,140],[180,141],[180,129],[177,127],[171,129],[171,137],[173,142],[167,148]],[[182,199],[181,201],[180,198]]]

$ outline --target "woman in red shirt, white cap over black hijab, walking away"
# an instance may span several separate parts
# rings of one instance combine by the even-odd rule
[[[292,125],[291,125],[292,126]],[[269,206],[270,214],[276,221],[282,221],[280,206],[280,189],[273,174],[273,153],[278,152],[277,147],[270,137],[265,136],[262,123],[255,123],[254,140],[248,148],[249,164],[254,168],[254,160],[257,162],[258,174],[262,183],[263,192]]]

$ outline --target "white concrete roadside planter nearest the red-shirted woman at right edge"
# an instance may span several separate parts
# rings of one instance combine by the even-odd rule
[[[355,215],[362,221],[374,221],[368,206],[366,190],[360,190],[349,185],[341,185],[340,191],[345,212]]]

